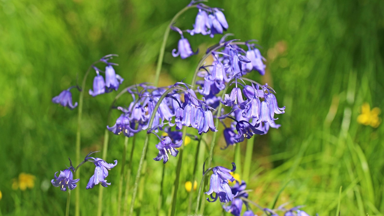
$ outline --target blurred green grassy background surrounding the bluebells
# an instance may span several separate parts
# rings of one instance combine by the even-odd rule
[[[51,103],[61,90],[76,85],[88,66],[101,56],[119,54],[116,71],[123,86],[151,81],[158,50],[169,20],[187,1],[102,0],[0,0],[0,209],[3,215],[64,215],[66,193],[51,186],[56,171],[75,158],[77,109]],[[279,115],[279,129],[257,136],[248,189],[249,198],[269,207],[288,181],[278,205],[305,205],[311,215],[334,215],[341,193],[341,215],[384,213],[383,125],[357,122],[364,102],[384,108],[384,2],[374,0],[219,1],[208,5],[225,9],[229,33],[242,40],[257,39],[267,59],[267,73],[248,77],[267,82],[286,113]],[[177,21],[192,28],[196,9]],[[160,84],[169,85],[192,73],[215,38],[185,35],[197,56],[173,58],[179,35],[170,33]],[[91,88],[89,76],[85,91]],[[116,92],[84,97],[82,155],[101,150],[109,105]],[[78,92],[73,91],[74,101]],[[127,105],[122,97],[119,105]],[[113,113],[114,119],[119,115]],[[381,114],[381,117],[383,115]],[[113,125],[113,122],[108,123]],[[219,128],[220,129],[220,128]],[[142,135],[132,160],[139,161]],[[121,136],[111,134],[107,161],[121,160]],[[157,155],[150,143],[148,158]],[[177,215],[185,215],[185,181],[191,176],[195,142],[185,147]],[[233,148],[225,151],[223,139],[215,149],[213,164],[230,166]],[[207,151],[205,151],[207,153]],[[245,154],[245,145],[242,145]],[[96,155],[101,157],[101,153]],[[201,156],[203,161],[206,155]],[[170,206],[176,159],[167,163],[161,215]],[[202,162],[201,162],[202,163]],[[153,215],[160,191],[161,162],[149,160],[143,207],[136,213]],[[201,179],[199,166],[197,181]],[[85,190],[93,166],[84,165],[78,190],[81,214],[95,214],[98,188]],[[108,176],[104,189],[104,214],[116,214],[119,166]],[[12,189],[20,173],[35,176],[34,187]],[[240,176],[241,177],[241,176]],[[132,181],[133,183],[133,181]],[[72,197],[74,201],[74,196]],[[203,197],[204,198],[204,197]],[[71,207],[74,207],[72,202]],[[207,215],[222,214],[220,204],[206,203]],[[252,206],[255,213],[260,211]],[[73,208],[71,208],[71,214]],[[229,214],[228,214],[229,215]]]

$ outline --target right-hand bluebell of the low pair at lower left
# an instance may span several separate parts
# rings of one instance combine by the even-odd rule
[[[90,159],[92,159],[93,161],[91,161]],[[87,157],[85,158],[85,160],[93,162],[96,166],[93,176],[89,178],[86,189],[93,188],[96,184],[99,183],[103,187],[108,187],[108,185],[111,185],[111,183],[108,183],[105,178],[107,178],[108,176],[108,170],[111,170],[118,164],[117,160],[114,160],[114,164],[107,163],[101,158]]]

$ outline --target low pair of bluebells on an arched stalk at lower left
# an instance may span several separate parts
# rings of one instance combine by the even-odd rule
[[[59,176],[55,173],[54,179],[51,180],[51,183],[55,187],[60,187],[62,191],[66,191],[67,188],[70,190],[73,190],[76,188],[76,183],[80,179],[73,179],[73,174],[76,172],[76,170],[83,165],[85,162],[92,162],[96,166],[94,169],[94,174],[89,178],[89,182],[86,186],[86,189],[93,188],[96,184],[101,184],[101,186],[107,187],[108,185],[111,185],[111,183],[107,183],[106,177],[108,176],[108,170],[111,170],[114,168],[114,166],[117,165],[118,161],[115,160],[113,163],[107,163],[101,158],[93,158],[89,155],[93,154],[95,152],[90,152],[76,168],[73,167],[72,161],[70,160],[70,167],[67,169],[64,169],[63,171],[60,171]]]

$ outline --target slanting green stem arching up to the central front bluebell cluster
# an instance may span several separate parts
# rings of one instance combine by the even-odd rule
[[[161,97],[157,101],[156,106],[155,106],[155,108],[154,108],[154,110],[153,110],[153,112],[151,114],[151,118],[149,119],[148,130],[151,130],[151,128],[152,128],[152,123],[153,123],[153,120],[154,120],[155,115],[157,113],[157,110],[159,109],[161,101],[166,97],[166,95],[170,91],[175,90],[175,89],[184,90],[184,89],[180,88],[179,86],[173,86],[173,87],[169,88],[168,90],[166,90],[161,95]],[[128,215],[132,215],[132,213],[133,213],[133,208],[134,208],[135,199],[136,199],[136,195],[137,195],[137,188],[139,186],[139,180],[140,180],[140,176],[141,176],[141,170],[142,170],[142,166],[143,166],[145,155],[147,153],[148,140],[149,140],[149,133],[147,133],[146,136],[145,136],[144,146],[143,146],[143,150],[142,150],[142,153],[141,153],[141,157],[140,157],[140,161],[139,161],[139,166],[137,167],[137,173],[136,173],[136,178],[135,178],[135,183],[134,183],[134,188],[133,188],[133,193],[132,193],[131,206],[129,207],[129,214]]]

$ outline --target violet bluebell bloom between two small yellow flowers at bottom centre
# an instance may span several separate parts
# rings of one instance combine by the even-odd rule
[[[234,181],[235,178],[230,174],[230,172],[235,171],[235,163],[232,163],[232,169],[227,169],[222,166],[215,166],[212,168],[213,174],[210,178],[209,191],[205,194],[210,195],[211,199],[207,198],[209,202],[215,202],[217,198],[220,199],[220,202],[227,203],[233,200],[233,194],[230,186],[228,185],[229,181]],[[212,193],[215,192],[215,196]]]

